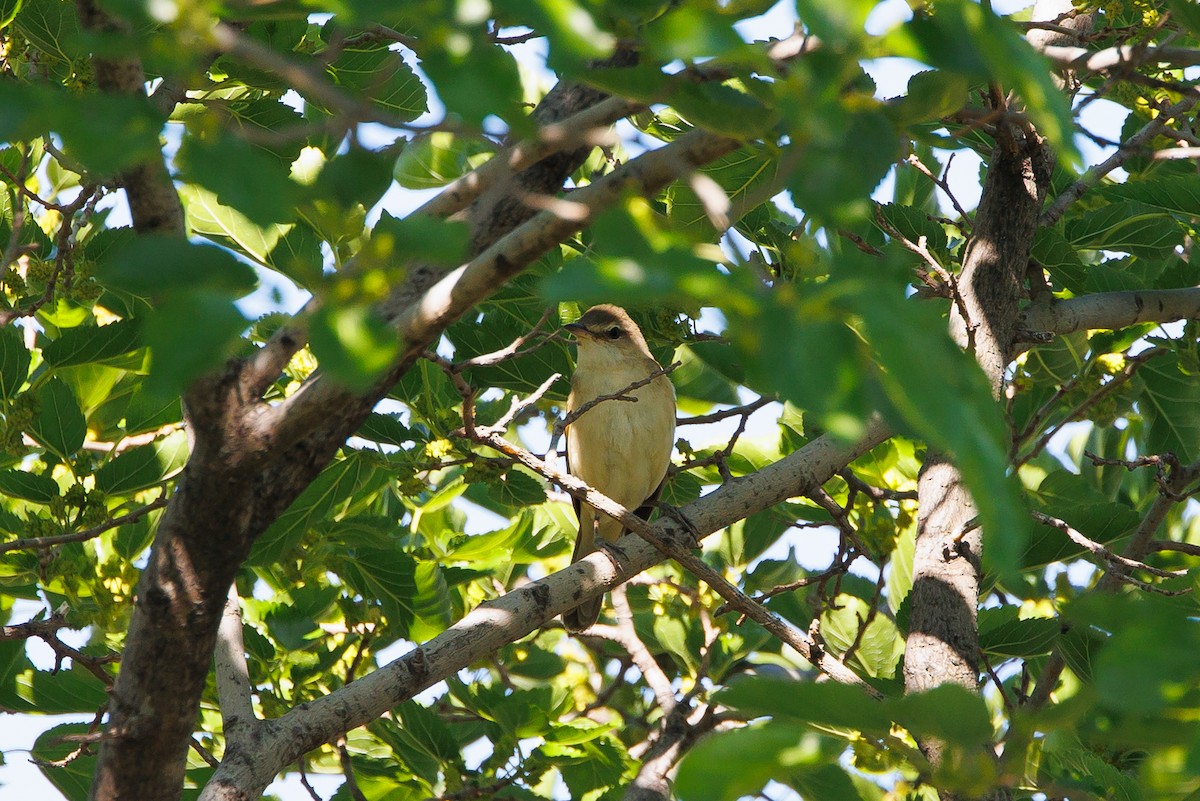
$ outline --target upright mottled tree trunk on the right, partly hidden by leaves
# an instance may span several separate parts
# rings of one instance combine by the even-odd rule
[[[974,351],[997,398],[1020,331],[1021,279],[1051,168],[1051,153],[1036,133],[1002,132],[958,281],[950,331]],[[982,537],[978,529],[965,531],[976,505],[946,454],[931,452],[926,458],[918,501],[905,688],[919,692],[953,682],[976,689]],[[936,766],[941,743],[926,740],[920,747]]]

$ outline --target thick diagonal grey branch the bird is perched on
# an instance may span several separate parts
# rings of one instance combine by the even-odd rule
[[[882,423],[872,423],[866,438],[853,446],[822,436],[757,472],[727,482],[680,512],[697,532],[707,536],[821,486],[888,435]],[[658,541],[684,549],[694,544],[692,532],[672,516],[660,518],[652,530]],[[257,797],[280,770],[301,754],[374,719],[397,703],[578,606],[580,601],[664,559],[656,547],[637,535],[623,537],[611,553],[617,561],[598,552],[545,579],[476,607],[445,632],[395,662],[281,718],[265,722],[264,735],[254,752],[227,758],[202,799]]]

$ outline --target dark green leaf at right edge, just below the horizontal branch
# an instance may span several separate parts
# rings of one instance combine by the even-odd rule
[[[1183,372],[1175,353],[1146,362],[1138,377],[1145,387],[1140,405],[1150,418],[1147,452],[1194,462],[1200,457],[1200,380]]]

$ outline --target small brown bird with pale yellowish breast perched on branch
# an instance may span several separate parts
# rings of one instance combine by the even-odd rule
[[[578,342],[578,359],[571,375],[568,412],[602,395],[626,390],[661,367],[641,329],[619,306],[593,306],[577,323],[564,326]],[[661,374],[630,390],[636,402],[602,401],[566,428],[566,468],[642,519],[648,519],[666,482],[674,445],[676,399],[671,380]],[[618,520],[598,514],[575,500],[580,532],[575,540],[576,562],[595,550],[595,535],[616,542],[625,529]],[[586,601],[563,613],[570,631],[583,631],[600,616],[604,597]]]

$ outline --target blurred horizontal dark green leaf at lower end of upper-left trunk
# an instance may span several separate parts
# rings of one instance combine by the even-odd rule
[[[240,297],[258,283],[253,269],[228,252],[174,236],[138,236],[97,264],[96,277],[145,297],[172,290]]]

